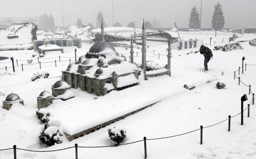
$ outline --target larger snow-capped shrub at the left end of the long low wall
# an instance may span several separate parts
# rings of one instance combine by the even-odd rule
[[[50,126],[40,133],[39,139],[43,144],[53,146],[55,143],[62,143],[61,136],[58,127]]]

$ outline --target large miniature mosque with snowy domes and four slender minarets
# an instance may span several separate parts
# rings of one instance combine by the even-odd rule
[[[133,41],[131,39],[131,59],[126,61],[125,56],[119,56],[115,48],[104,41],[103,23],[101,26],[102,41],[96,42],[85,57],[79,57],[79,61],[68,65],[66,70],[62,70],[62,80],[66,81],[70,88],[80,88],[90,94],[104,96],[110,91],[120,91],[139,84],[139,74],[146,74],[146,36],[143,20],[142,27],[142,66],[138,67],[133,59]],[[168,65],[164,72],[158,74],[168,74],[171,76],[171,44],[168,44]],[[54,93],[53,93],[54,94]]]

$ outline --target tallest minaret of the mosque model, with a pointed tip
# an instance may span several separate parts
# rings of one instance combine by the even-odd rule
[[[144,18],[143,18],[143,24],[142,24],[142,48],[141,48],[141,52],[142,52],[142,70],[143,70],[143,74],[144,74],[144,80],[148,80],[147,79],[147,74],[146,74],[146,52],[147,52],[147,48],[146,48],[146,30],[145,30],[145,26],[144,26]]]

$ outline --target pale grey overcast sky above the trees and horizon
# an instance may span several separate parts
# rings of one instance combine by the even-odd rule
[[[63,1],[61,3],[61,1]],[[64,26],[76,25],[77,19],[83,24],[96,26],[97,13],[101,11],[105,23],[112,21],[126,27],[136,22],[139,28],[142,20],[159,23],[159,28],[188,28],[190,11],[196,6],[200,13],[201,0],[0,0],[0,17],[35,17],[35,15],[53,15],[55,26],[62,24],[62,4]],[[256,0],[202,0],[201,28],[212,28],[211,20],[214,5],[220,2],[225,17],[224,28],[256,28]],[[70,18],[69,18],[70,17]]]

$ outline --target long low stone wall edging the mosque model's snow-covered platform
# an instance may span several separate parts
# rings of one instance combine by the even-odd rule
[[[160,102],[160,101],[158,101],[158,102]],[[96,131],[96,130],[99,130],[99,129],[101,129],[101,128],[104,128],[105,126],[108,126],[108,125],[110,125],[110,124],[113,124],[113,123],[115,123],[115,122],[117,122],[117,121],[119,121],[119,120],[122,120],[122,119],[126,118],[127,116],[130,116],[130,115],[133,115],[133,114],[135,114],[135,113],[138,113],[139,111],[142,111],[142,110],[146,109],[147,107],[150,107],[150,106],[152,106],[152,105],[154,105],[154,104],[156,104],[156,103],[158,103],[158,102],[152,103],[152,104],[150,104],[150,105],[147,105],[147,106],[145,106],[145,107],[142,107],[142,108],[140,108],[140,109],[137,109],[136,111],[132,111],[132,112],[126,114],[126,115],[122,115],[122,116],[120,116],[120,117],[118,117],[118,118],[115,118],[115,119],[113,119],[113,120],[109,120],[109,121],[107,121],[107,122],[104,122],[104,123],[99,124],[99,125],[97,125],[97,126],[94,126],[94,127],[92,127],[92,128],[86,129],[86,130],[81,131],[81,132],[79,132],[79,133],[70,135],[70,134],[67,134],[67,133],[64,132],[64,134],[66,135],[66,137],[68,138],[69,141],[72,141],[73,139],[77,139],[77,138],[79,138],[79,137],[82,137],[82,136],[84,136],[84,135],[87,135],[87,134],[89,134],[89,133],[92,133],[92,132],[94,132],[94,131]]]

